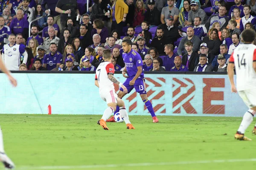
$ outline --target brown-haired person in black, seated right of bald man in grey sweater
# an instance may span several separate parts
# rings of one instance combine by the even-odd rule
[[[209,52],[213,55],[217,55],[220,50],[221,40],[218,37],[218,30],[216,28],[212,29],[209,36],[204,37],[202,43],[207,43]]]

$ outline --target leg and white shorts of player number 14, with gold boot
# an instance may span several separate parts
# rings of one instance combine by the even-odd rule
[[[243,116],[242,122],[239,126],[239,129],[237,130],[237,132],[235,134],[235,139],[251,140],[251,139],[247,138],[246,136],[244,136],[244,132],[247,129],[247,127],[251,124],[251,122],[253,122],[253,116],[256,114],[256,103],[254,102],[253,91],[255,91],[255,90],[239,91],[239,96],[241,96],[244,103],[250,109],[244,113],[244,116]]]

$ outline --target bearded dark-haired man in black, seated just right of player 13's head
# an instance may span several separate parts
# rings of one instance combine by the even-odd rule
[[[167,40],[163,28],[158,27],[156,35],[149,46],[156,48],[159,54],[164,54],[164,45],[167,44]],[[170,44],[174,45],[174,42],[170,42]]]

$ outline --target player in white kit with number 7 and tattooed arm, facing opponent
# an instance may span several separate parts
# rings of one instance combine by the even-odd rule
[[[99,88],[99,95],[102,100],[107,102],[108,108],[104,111],[102,118],[97,122],[103,127],[104,130],[108,130],[106,120],[116,111],[116,105],[120,107],[119,113],[123,117],[127,129],[135,129],[129,121],[128,114],[125,109],[125,102],[117,97],[113,83],[120,85],[124,89],[124,93],[127,93],[127,88],[117,81],[113,76],[115,69],[111,63],[112,54],[110,49],[103,51],[103,59],[96,69],[95,85]]]

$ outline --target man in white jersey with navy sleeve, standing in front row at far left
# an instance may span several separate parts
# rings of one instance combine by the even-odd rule
[[[26,64],[28,54],[25,50],[25,45],[15,44],[15,35],[9,35],[9,43],[3,46],[2,59],[8,70],[19,70],[20,57],[23,56],[23,64]]]

